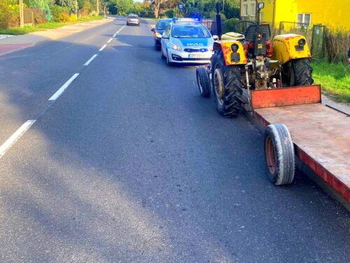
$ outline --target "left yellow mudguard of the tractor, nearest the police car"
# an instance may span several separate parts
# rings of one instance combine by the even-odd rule
[[[225,58],[226,66],[246,65],[246,53],[244,52],[243,45],[239,41],[236,41],[236,40],[215,41],[213,49],[214,51],[215,50],[223,51],[223,57]]]

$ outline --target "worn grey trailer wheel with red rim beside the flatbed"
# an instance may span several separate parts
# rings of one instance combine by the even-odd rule
[[[282,123],[267,126],[264,135],[265,159],[269,180],[275,185],[294,180],[294,146],[288,128]]]

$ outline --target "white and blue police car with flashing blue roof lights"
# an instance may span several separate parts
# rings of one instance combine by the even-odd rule
[[[172,63],[210,62],[214,38],[207,27],[196,19],[175,19],[162,34],[160,53]]]

